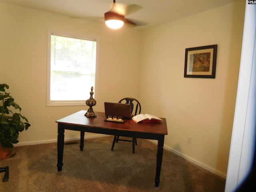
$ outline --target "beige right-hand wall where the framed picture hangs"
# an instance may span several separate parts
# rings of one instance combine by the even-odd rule
[[[167,119],[167,148],[223,177],[234,119],[244,12],[242,0],[142,32],[142,112]],[[218,44],[216,78],[184,78],[185,49],[212,44]]]

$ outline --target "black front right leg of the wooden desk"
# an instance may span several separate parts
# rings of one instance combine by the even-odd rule
[[[163,150],[164,150],[164,135],[160,136],[160,138],[158,139],[157,154],[156,154],[155,187],[158,187],[159,182],[160,182],[160,172],[161,172],[162,159],[163,159]]]

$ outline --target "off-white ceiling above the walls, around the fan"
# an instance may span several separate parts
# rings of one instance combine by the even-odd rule
[[[237,0],[116,0],[120,7],[137,4],[138,10],[125,17],[137,29],[168,23],[186,16],[217,8]],[[63,14],[80,22],[104,22],[104,13],[113,0],[0,0],[0,2]]]

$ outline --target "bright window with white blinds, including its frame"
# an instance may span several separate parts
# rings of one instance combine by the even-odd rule
[[[48,38],[46,105],[85,105],[95,90],[96,40],[52,33]]]

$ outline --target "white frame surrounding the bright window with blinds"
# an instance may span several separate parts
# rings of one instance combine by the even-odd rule
[[[95,85],[93,88],[94,99],[97,98],[97,94],[95,94],[95,90],[97,89],[98,82],[98,50],[99,50],[99,39],[95,37],[85,37],[77,34],[69,34],[63,32],[56,32],[52,30],[48,30],[47,32],[47,74],[46,74],[46,106],[85,106],[86,100],[90,98],[90,89],[88,90],[88,98],[86,100],[68,100],[68,101],[51,101],[50,100],[50,86],[51,86],[51,36],[64,36],[69,38],[77,38],[82,40],[93,40],[96,42],[96,68],[95,68]]]

